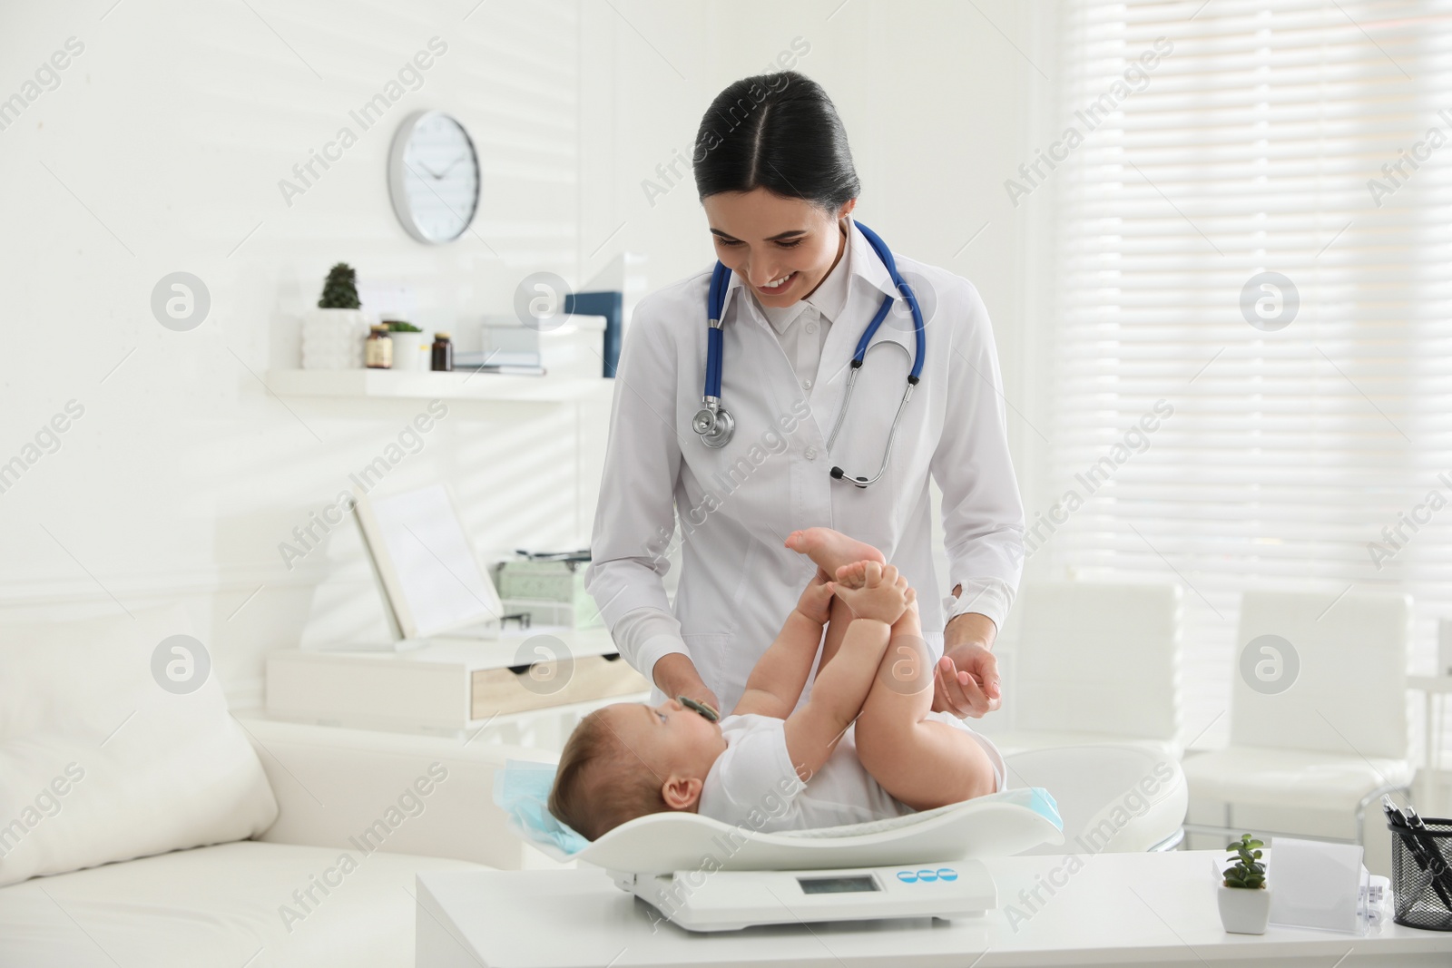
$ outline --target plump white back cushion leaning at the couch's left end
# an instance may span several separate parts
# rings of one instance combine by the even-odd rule
[[[158,646],[179,634],[179,605],[0,628],[0,885],[240,840],[277,817],[216,675],[195,691],[167,676],[182,656]]]

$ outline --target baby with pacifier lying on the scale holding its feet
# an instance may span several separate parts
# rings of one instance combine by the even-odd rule
[[[1002,788],[1002,758],[986,737],[929,718],[934,656],[897,569],[829,528],[793,531],[786,544],[817,575],[736,708],[720,723],[678,700],[595,710],[560,755],[549,797],[556,819],[590,840],[666,810],[755,830],[829,827]],[[819,644],[812,692],[794,710]]]

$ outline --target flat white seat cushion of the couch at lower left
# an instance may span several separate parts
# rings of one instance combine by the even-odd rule
[[[414,875],[468,869],[242,840],[35,878],[0,888],[0,965],[412,968]]]

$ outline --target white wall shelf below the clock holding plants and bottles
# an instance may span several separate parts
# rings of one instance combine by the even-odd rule
[[[267,370],[267,387],[279,396],[348,396],[380,399],[534,401],[543,403],[610,402],[614,380],[517,376],[457,370]]]

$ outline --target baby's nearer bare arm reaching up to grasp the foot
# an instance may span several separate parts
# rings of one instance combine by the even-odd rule
[[[852,724],[873,688],[873,679],[892,639],[892,623],[912,601],[908,579],[897,569],[868,563],[867,583],[860,589],[838,589],[855,618],[847,627],[842,647],[817,669],[807,702],[787,717],[787,755],[803,781],[822,769],[838,739]]]

